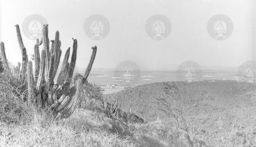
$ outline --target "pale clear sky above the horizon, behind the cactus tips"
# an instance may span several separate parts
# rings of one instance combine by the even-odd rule
[[[77,63],[84,69],[96,45],[93,69],[115,68],[131,60],[141,70],[175,69],[185,60],[202,67],[237,67],[256,57],[255,1],[253,0],[0,0],[0,40],[6,56],[17,64],[21,60],[14,25],[22,28],[29,15],[41,15],[49,24],[49,38],[60,31],[63,53],[77,39]],[[84,31],[84,22],[92,15],[103,15],[109,32],[102,39],[92,39]],[[147,31],[148,18],[164,15],[170,21],[170,34],[152,39]],[[233,24],[232,34],[214,39],[207,24],[214,15],[226,15]],[[35,40],[22,31],[28,53]]]

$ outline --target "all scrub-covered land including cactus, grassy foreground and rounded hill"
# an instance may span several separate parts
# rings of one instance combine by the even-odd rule
[[[68,49],[58,75],[59,32],[51,41],[50,51],[44,25],[44,37],[35,45],[33,72],[18,25],[16,29],[22,64],[12,69],[1,43],[1,147],[256,146],[253,83],[164,82],[102,95],[100,87],[86,81],[96,47],[84,75],[73,76],[77,50],[74,39],[71,61],[68,63]],[[40,58],[41,44],[44,48]]]

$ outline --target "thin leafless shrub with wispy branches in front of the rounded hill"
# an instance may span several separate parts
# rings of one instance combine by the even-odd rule
[[[156,98],[159,111],[163,112],[166,118],[175,124],[175,127],[184,134],[188,146],[193,147],[195,137],[191,134],[188,115],[191,111],[197,112],[198,101],[191,90],[184,90],[177,86],[175,82],[164,83],[164,92],[167,97]],[[193,140],[194,139],[194,140]],[[200,141],[198,140],[197,143]],[[203,141],[200,144],[204,144]]]

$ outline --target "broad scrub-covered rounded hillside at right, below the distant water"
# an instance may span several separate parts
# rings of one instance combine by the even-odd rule
[[[163,82],[106,97],[109,101],[120,97],[125,103],[121,108],[133,106],[136,114],[147,118],[148,123],[135,124],[134,136],[142,142],[152,141],[154,144],[157,141],[161,143],[158,146],[252,147],[256,145],[255,89],[253,83],[236,81]],[[184,109],[180,111],[180,108]],[[156,112],[158,118],[152,112]],[[186,127],[188,131],[185,131]]]

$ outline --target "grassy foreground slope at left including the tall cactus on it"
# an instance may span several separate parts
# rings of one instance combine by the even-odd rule
[[[86,81],[96,46],[92,48],[84,75],[73,77],[77,50],[77,41],[73,39],[71,62],[68,63],[68,49],[58,75],[59,32],[51,41],[50,51],[48,29],[44,25],[42,41],[37,40],[35,45],[34,75],[19,25],[15,27],[22,64],[12,69],[6,59],[4,43],[1,43],[1,68],[4,71],[0,73],[0,146],[138,146],[136,139],[132,139],[128,121],[122,122],[122,119],[129,118],[127,116],[132,116],[130,122],[142,119],[122,111],[117,104],[104,101],[99,87]],[[40,58],[39,46],[42,44]],[[80,109],[76,111],[78,102]]]

